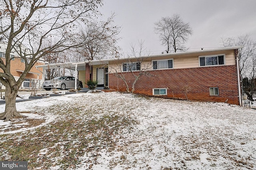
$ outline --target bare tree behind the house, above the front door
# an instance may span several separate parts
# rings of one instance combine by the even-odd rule
[[[84,45],[79,48],[79,53],[84,57],[84,60],[118,56],[120,48],[116,43],[120,39],[118,37],[120,27],[113,25],[114,16],[113,13],[106,22],[94,21],[80,30]]]

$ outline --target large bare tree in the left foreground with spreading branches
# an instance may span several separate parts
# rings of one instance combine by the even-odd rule
[[[20,116],[16,95],[27,73],[44,55],[80,47],[79,25],[97,14],[102,0],[1,0],[0,39],[6,44],[6,58],[0,58],[0,82],[6,87],[5,112],[0,119]],[[55,38],[52,45],[45,42]],[[47,43],[46,43],[47,44]],[[16,81],[10,71],[10,53],[24,59],[25,69]]]

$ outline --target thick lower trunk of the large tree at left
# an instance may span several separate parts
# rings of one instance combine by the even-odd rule
[[[18,86],[13,88],[6,87],[5,90],[5,112],[0,114],[0,120],[12,121],[14,117],[21,117],[16,110],[16,96],[18,94]]]

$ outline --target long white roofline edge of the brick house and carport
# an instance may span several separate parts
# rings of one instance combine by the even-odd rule
[[[175,56],[175,55],[183,55],[183,54],[193,54],[193,53],[204,53],[204,52],[214,52],[214,51],[223,51],[223,50],[230,50],[230,49],[241,49],[244,46],[235,46],[235,47],[223,47],[223,48],[215,48],[215,49],[205,49],[205,50],[196,50],[196,51],[185,51],[185,52],[177,52],[177,53],[166,53],[166,54],[157,54],[157,55],[145,55],[141,56],[144,57],[160,57],[160,56]],[[130,57],[130,59],[136,59],[138,57]],[[111,59],[98,59],[98,60],[90,60],[90,61],[74,61],[74,62],[68,62],[68,63],[54,63],[54,64],[46,64],[48,66],[58,66],[58,65],[76,65],[76,64],[83,64],[83,63],[94,63],[99,61],[116,61],[116,60],[125,60],[124,58],[111,58]],[[38,67],[45,67],[46,65],[36,65],[36,68]]]

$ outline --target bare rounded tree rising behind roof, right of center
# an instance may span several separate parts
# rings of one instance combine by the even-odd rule
[[[189,23],[185,23],[179,14],[172,17],[162,17],[161,20],[155,22],[155,33],[159,34],[160,42],[166,46],[166,53],[170,51],[186,51],[184,43],[188,40],[188,36],[192,35],[192,28]]]

